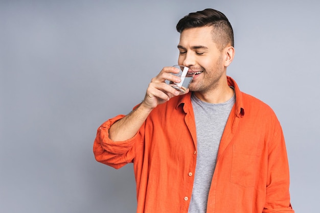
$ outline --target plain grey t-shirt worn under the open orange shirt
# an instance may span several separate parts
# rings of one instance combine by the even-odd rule
[[[220,104],[206,103],[194,94],[191,96],[197,130],[197,163],[189,213],[207,212],[221,136],[235,101],[235,94]]]

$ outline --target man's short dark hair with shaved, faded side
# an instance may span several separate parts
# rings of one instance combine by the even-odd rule
[[[214,9],[189,13],[179,20],[176,29],[181,33],[186,29],[205,26],[213,27],[213,39],[220,50],[227,44],[235,45],[231,23],[223,13]]]

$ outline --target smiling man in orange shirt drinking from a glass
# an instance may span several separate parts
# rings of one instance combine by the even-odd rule
[[[98,128],[97,161],[116,169],[133,162],[137,212],[294,212],[276,115],[226,76],[235,54],[230,22],[205,9],[177,31],[191,92],[166,84],[179,79],[164,67],[141,104]]]

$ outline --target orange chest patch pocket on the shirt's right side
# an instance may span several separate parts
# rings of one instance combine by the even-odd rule
[[[233,145],[230,182],[243,187],[253,187],[261,165],[259,146]]]

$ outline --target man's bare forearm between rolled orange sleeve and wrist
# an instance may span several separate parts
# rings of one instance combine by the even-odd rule
[[[124,141],[132,138],[146,121],[151,108],[140,104],[128,115],[113,124],[109,129],[109,138],[113,141]]]

